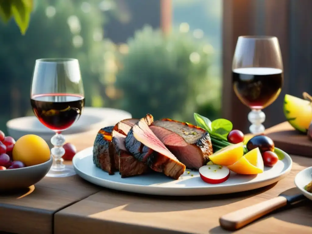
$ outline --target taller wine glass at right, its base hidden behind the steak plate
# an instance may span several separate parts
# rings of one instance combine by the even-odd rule
[[[266,115],[262,109],[276,100],[283,85],[283,61],[276,37],[238,37],[232,64],[233,89],[251,108],[248,120],[252,134],[263,133]]]

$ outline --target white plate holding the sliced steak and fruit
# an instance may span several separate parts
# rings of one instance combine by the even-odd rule
[[[238,175],[231,172],[230,178],[221,184],[208,184],[202,181],[197,171],[185,172],[178,180],[162,173],[121,178],[119,173],[109,175],[95,167],[92,160],[92,147],[80,151],[73,158],[73,166],[78,175],[96,185],[133,193],[169,196],[191,196],[235,193],[261,188],[284,178],[291,169],[292,160],[285,154],[273,168],[265,168],[258,175]],[[192,176],[193,175],[193,176]]]

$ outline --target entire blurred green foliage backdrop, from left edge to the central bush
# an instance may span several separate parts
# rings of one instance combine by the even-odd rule
[[[194,111],[219,117],[221,83],[209,76],[214,54],[207,38],[194,38],[183,24],[168,35],[146,26],[116,45],[105,38],[110,19],[123,20],[116,2],[35,0],[25,35],[13,19],[0,22],[0,129],[32,115],[33,67],[48,57],[79,60],[87,106],[192,123]]]

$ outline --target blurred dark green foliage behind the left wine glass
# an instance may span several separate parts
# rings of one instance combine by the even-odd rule
[[[107,20],[93,0],[37,0],[27,33],[21,35],[13,20],[0,22],[0,127],[7,120],[32,113],[30,85],[36,59],[72,57],[80,62],[85,100],[91,105],[94,86],[101,85],[102,40]],[[83,5],[85,4],[85,5]],[[83,8],[84,7],[84,8]],[[109,43],[110,45],[110,43]]]

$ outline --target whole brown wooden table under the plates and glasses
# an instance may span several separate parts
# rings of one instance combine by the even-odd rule
[[[96,132],[67,139],[78,150],[93,144]],[[0,231],[14,233],[227,233],[221,215],[296,192],[295,174],[312,159],[291,155],[287,178],[254,191],[201,197],[159,197],[123,193],[91,185],[78,176],[44,178],[29,195],[0,194]],[[290,190],[289,190],[290,189]],[[311,233],[312,202],[275,212],[237,233]],[[54,217],[54,219],[53,219]],[[53,222],[54,221],[54,222]]]

